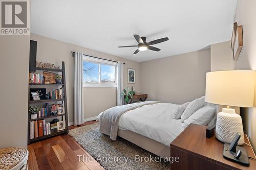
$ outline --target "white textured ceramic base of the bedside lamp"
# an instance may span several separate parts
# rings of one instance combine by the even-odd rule
[[[224,143],[231,143],[238,132],[241,134],[238,145],[242,145],[244,130],[241,116],[234,109],[223,108],[217,114],[216,138]]]

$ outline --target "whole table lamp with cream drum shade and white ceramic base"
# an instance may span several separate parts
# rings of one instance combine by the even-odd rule
[[[227,70],[206,73],[205,102],[225,105],[217,114],[216,138],[231,143],[239,132],[238,145],[244,143],[242,118],[229,106],[252,107],[254,101],[255,71]]]

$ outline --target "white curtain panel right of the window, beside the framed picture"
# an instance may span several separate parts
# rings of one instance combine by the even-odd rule
[[[123,62],[117,63],[117,106],[123,105]]]

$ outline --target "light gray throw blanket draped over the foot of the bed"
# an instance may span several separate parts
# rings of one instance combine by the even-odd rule
[[[142,107],[144,105],[152,105],[156,103],[159,102],[146,101],[122,106],[115,106],[108,110],[105,110],[99,118],[99,132],[109,135],[112,140],[116,140],[119,118],[123,113],[129,110],[136,109],[138,107]]]

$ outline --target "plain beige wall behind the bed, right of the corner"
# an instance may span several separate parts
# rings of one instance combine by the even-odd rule
[[[205,94],[210,50],[140,63],[140,89],[148,99],[182,104]]]

